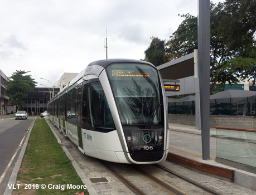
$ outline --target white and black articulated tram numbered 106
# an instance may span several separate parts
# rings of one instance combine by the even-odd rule
[[[86,155],[136,164],[167,158],[165,89],[148,62],[92,62],[50,101],[48,110],[52,123]]]

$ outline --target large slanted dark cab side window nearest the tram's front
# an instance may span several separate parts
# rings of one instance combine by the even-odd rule
[[[89,85],[88,103],[92,130],[108,132],[115,129],[114,120],[100,82],[93,82],[93,85]]]

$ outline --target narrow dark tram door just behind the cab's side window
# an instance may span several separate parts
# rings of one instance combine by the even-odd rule
[[[78,145],[83,149],[83,140],[82,140],[82,130],[81,130],[81,118],[82,118],[82,84],[77,86],[77,96],[76,96],[76,111],[77,118],[76,124],[78,124]]]

